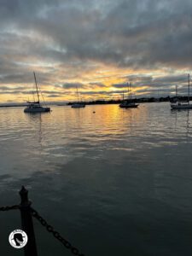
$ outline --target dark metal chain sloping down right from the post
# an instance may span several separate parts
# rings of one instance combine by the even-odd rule
[[[67,241],[65,238],[63,238],[59,232],[55,231],[54,228],[49,225],[46,220],[44,218],[42,218],[38,212],[36,210],[34,210],[32,207],[31,207],[31,212],[32,212],[32,216],[34,218],[37,218],[38,221],[48,230],[49,233],[52,233],[53,236],[55,236],[55,238],[59,241],[61,241],[61,243],[67,247],[67,249],[70,249],[71,252],[74,254],[74,255],[78,255],[78,256],[84,256],[84,254],[82,253],[79,253],[79,250],[76,248],[76,247],[73,247],[71,245],[71,243],[69,241]]]

